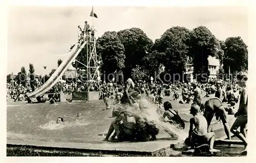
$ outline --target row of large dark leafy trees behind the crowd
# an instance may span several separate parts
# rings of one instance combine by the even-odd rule
[[[99,59],[102,59],[101,72],[106,75],[115,71],[130,71],[136,65],[144,69],[148,76],[159,72],[162,67],[165,67],[166,73],[182,75],[186,63],[194,65],[194,75],[209,75],[209,56],[223,63],[222,73],[228,73],[228,67],[230,73],[248,68],[247,45],[241,37],[220,41],[204,26],[191,31],[184,27],[172,27],[155,42],[139,28],[108,31],[97,39],[96,48]],[[76,59],[86,64],[85,58],[86,48]],[[84,67],[79,63],[73,66]]]

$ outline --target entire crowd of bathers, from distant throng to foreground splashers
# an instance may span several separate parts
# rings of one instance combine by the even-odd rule
[[[137,140],[148,141],[156,139],[158,134],[158,124],[153,120],[146,120],[146,117],[134,111],[127,111],[127,106],[133,106],[138,110],[145,112],[146,105],[143,104],[142,97],[147,99],[151,104],[157,104],[156,112],[161,114],[161,120],[165,117],[172,123],[182,120],[179,118],[178,111],[174,110],[172,104],[166,101],[163,102],[163,95],[170,97],[172,100],[180,100],[180,104],[190,103],[190,113],[194,116],[190,119],[190,130],[188,138],[185,143],[196,146],[199,143],[209,143],[210,151],[216,151],[213,148],[215,139],[214,132],[208,132],[211,120],[214,116],[220,119],[224,125],[227,137],[231,139],[231,133],[240,138],[245,144],[245,151],[247,149],[246,141],[246,124],[247,124],[247,76],[238,75],[238,83],[215,82],[215,83],[169,83],[163,84],[161,82],[144,82],[136,81],[132,77],[128,78],[125,83],[117,84],[114,82],[101,82],[96,85],[91,85],[90,90],[98,90],[100,92],[100,99],[103,99],[106,109],[113,109],[112,117],[116,119],[112,122],[109,132],[105,137],[105,141],[111,137],[117,137],[118,141]],[[65,92],[66,94],[75,91],[84,91],[87,88],[87,83],[58,82],[49,92]],[[12,82],[7,84],[7,96],[16,100],[20,100],[22,94],[30,92],[32,89],[29,85],[17,84]],[[202,103],[202,92],[205,91],[204,97],[209,97],[210,94],[215,94],[215,98],[208,99],[205,104]],[[179,98],[181,96],[181,98]],[[24,100],[24,99],[21,99]],[[222,104],[226,102],[230,107],[224,107]],[[239,102],[239,109],[234,112],[234,105]],[[126,110],[125,110],[126,109]],[[137,110],[137,111],[138,111]],[[203,114],[201,114],[203,112]],[[226,113],[234,114],[236,121],[231,128],[227,124]],[[138,116],[139,115],[139,116]],[[63,120],[61,120],[63,121]],[[184,122],[183,122],[184,123]],[[137,125],[136,125],[137,124]],[[182,126],[182,125],[181,125]],[[176,126],[182,128],[180,126]],[[240,127],[240,131],[238,128]],[[136,131],[136,132],[135,132]],[[168,132],[168,131],[166,131]],[[175,136],[172,132],[169,132]]]

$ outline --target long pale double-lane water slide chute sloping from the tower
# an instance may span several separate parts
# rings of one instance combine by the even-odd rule
[[[86,45],[86,41],[84,41],[81,46],[78,46],[78,43],[77,43],[73,47],[73,49],[70,51],[69,57],[58,66],[56,71],[47,80],[47,82],[43,84],[41,87],[37,88],[35,91],[28,94],[28,96],[32,98],[32,101],[35,101],[34,98],[37,98],[43,95],[45,92],[51,89],[59,81],[59,79],[62,77],[62,75],[71,65],[71,63],[75,60],[75,58],[77,57],[77,55],[80,53],[80,51],[85,45]]]

